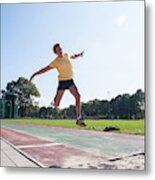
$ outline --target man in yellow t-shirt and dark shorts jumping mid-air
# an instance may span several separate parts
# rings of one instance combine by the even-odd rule
[[[37,71],[34,73],[30,81],[39,74],[43,74],[51,69],[56,68],[59,75],[58,75],[58,81],[59,85],[57,88],[57,93],[54,98],[54,106],[58,107],[60,104],[60,101],[62,99],[62,96],[65,92],[66,89],[70,91],[70,93],[74,96],[75,102],[76,102],[76,116],[77,116],[77,121],[76,124],[85,127],[86,124],[81,117],[81,101],[80,101],[80,94],[78,92],[78,89],[73,81],[73,71],[72,71],[72,64],[70,62],[70,59],[76,59],[77,57],[82,57],[83,52],[79,54],[75,54],[72,56],[69,56],[67,53],[63,54],[63,50],[60,46],[60,44],[55,44],[53,46],[53,51],[57,55],[57,57],[45,68]]]

